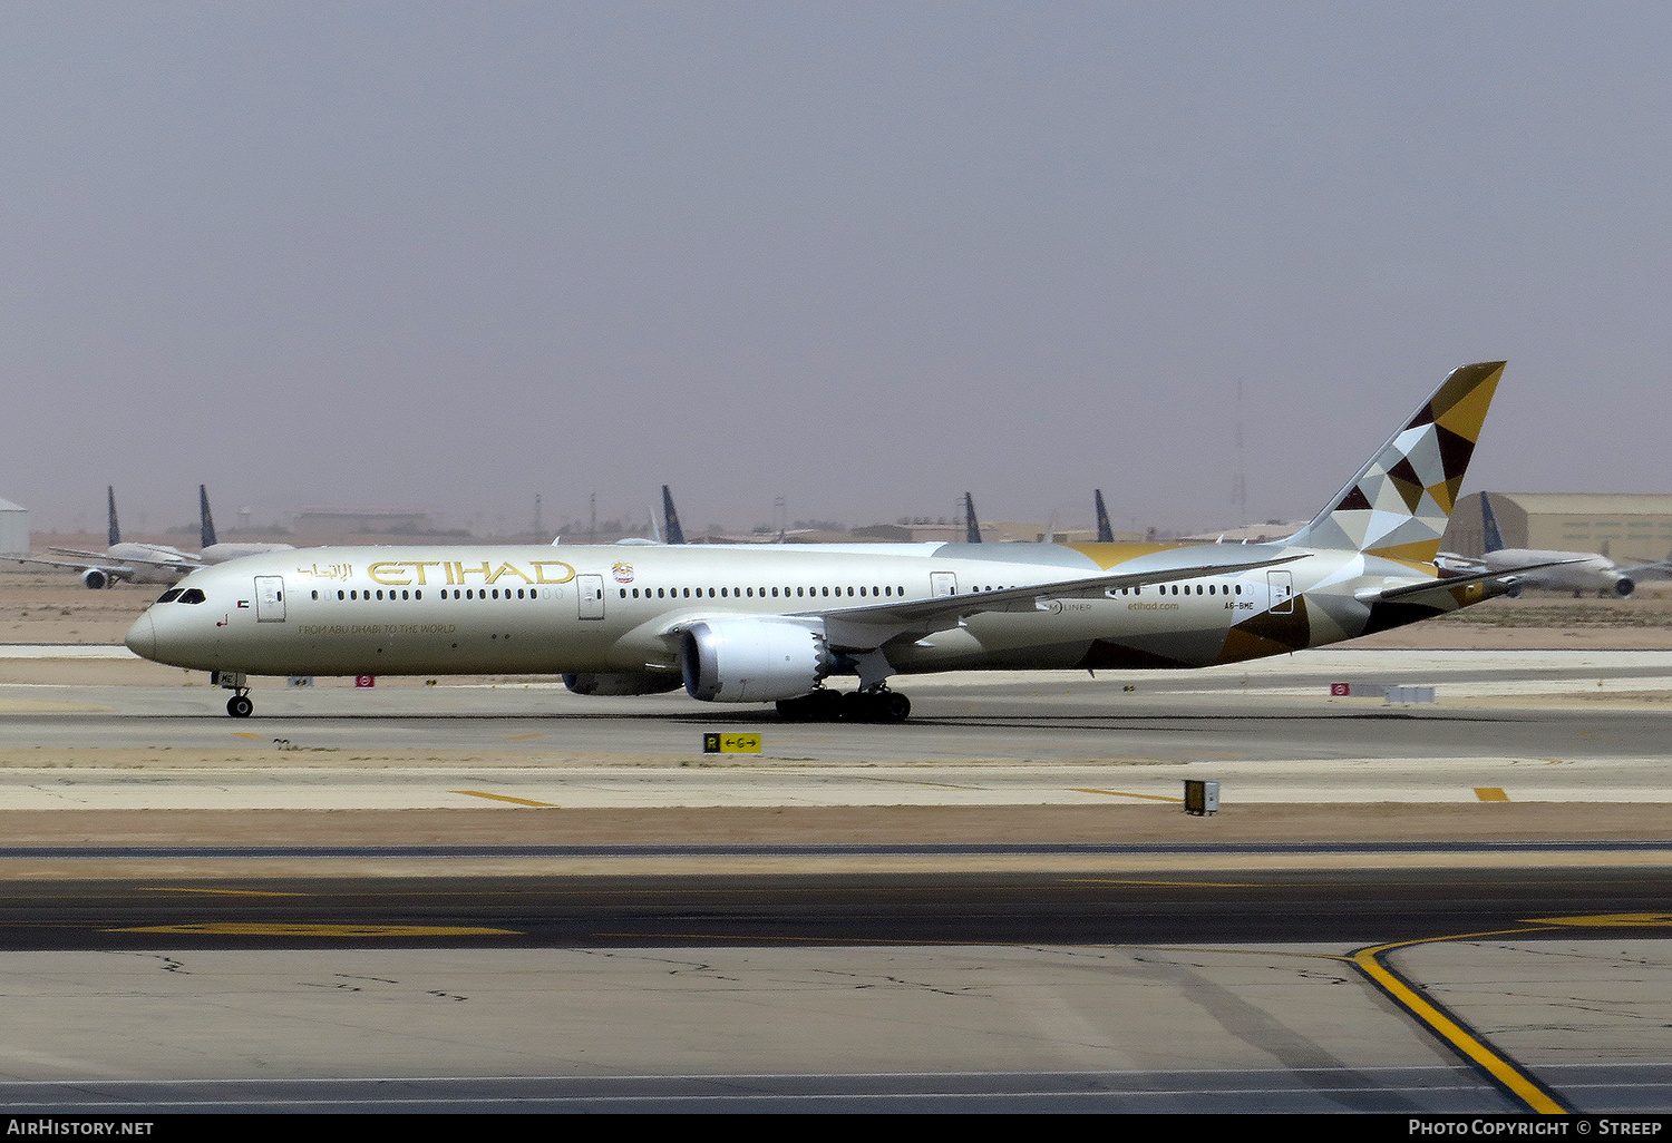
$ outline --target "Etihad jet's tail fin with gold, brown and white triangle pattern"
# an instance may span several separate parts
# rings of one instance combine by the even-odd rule
[[[1453,371],[1289,543],[1433,563],[1503,366]]]

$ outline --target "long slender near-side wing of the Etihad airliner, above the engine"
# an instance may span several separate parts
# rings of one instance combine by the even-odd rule
[[[829,610],[798,612],[806,618],[823,618],[824,635],[833,647],[846,650],[876,650],[901,635],[923,637],[958,627],[966,617],[983,612],[1037,612],[1047,600],[1100,598],[1114,588],[1150,587],[1199,580],[1212,575],[1241,575],[1257,568],[1274,568],[1308,558],[1306,553],[1276,560],[1244,560],[1241,563],[1199,563],[1187,568],[1162,568],[1154,572],[1122,572],[1119,575],[1093,575],[1080,580],[1058,580],[998,592],[966,592],[936,595],[928,600],[900,600],[896,603],[869,603]]]

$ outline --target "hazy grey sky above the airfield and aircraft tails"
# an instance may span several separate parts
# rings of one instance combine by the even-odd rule
[[[1665,3],[0,3],[0,496],[687,526],[1669,491]]]

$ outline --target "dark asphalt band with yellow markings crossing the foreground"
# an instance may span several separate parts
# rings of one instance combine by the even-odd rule
[[[1660,936],[1660,869],[8,882],[7,949],[1239,944]],[[1588,924],[1588,922],[1580,922]]]

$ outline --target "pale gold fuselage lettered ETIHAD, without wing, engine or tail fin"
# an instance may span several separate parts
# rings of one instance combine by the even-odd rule
[[[697,620],[839,622],[866,608],[978,595],[1109,568],[1224,563],[1206,545],[739,545],[321,548],[244,556],[192,572],[129,633],[145,658],[252,675],[667,673],[669,630]],[[1326,642],[1363,630],[1351,590],[1381,585],[1359,553],[1319,551],[1281,572],[1209,575],[1093,598],[1027,600],[948,630],[890,643],[891,672],[1107,667],[1099,640],[1154,647],[1155,665],[1197,667],[1309,645],[1226,632],[1271,613],[1306,623],[1304,592],[1328,582],[1346,608]],[[1379,561],[1378,561],[1379,563]],[[1393,566],[1408,582],[1425,577]],[[201,602],[182,602],[197,597]],[[1339,610],[1338,608],[1338,610]],[[1356,628],[1354,628],[1356,617]],[[1346,630],[1354,628],[1354,630]],[[1147,650],[1139,653],[1149,653]],[[1159,662],[1167,658],[1169,662]]]

